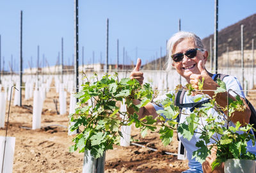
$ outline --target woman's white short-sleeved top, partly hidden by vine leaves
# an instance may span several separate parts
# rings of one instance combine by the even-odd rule
[[[226,84],[226,87],[227,87],[227,91],[228,89],[232,89],[233,91],[236,91],[237,94],[239,94],[239,96],[241,96],[242,98],[245,98],[244,96],[244,93],[242,90],[242,87],[241,87],[241,84],[240,82],[236,79],[236,77],[232,77],[232,76],[227,76],[227,77],[224,77],[223,79],[223,82],[225,82]],[[174,91],[173,91],[174,92]],[[236,93],[230,91],[230,94],[232,96],[236,96]],[[198,97],[198,95],[196,96],[188,96],[187,93],[185,93],[184,95],[184,98],[183,98],[183,103],[194,103],[193,99],[195,99],[195,97]],[[201,101],[203,100],[207,100],[207,98],[202,98]],[[159,109],[163,109],[163,107],[158,107],[157,105],[154,105],[154,108],[156,110],[159,110]],[[186,117],[191,114],[190,108],[184,108],[182,109],[182,111],[184,111],[185,114],[187,115],[184,115],[182,114],[182,116],[180,116],[180,123],[184,123],[184,121],[186,121]],[[214,110],[214,109],[210,109],[208,111],[208,114],[212,114],[212,115],[218,115],[218,113]],[[200,118],[200,121],[201,121],[201,124],[204,124],[205,123],[205,119],[204,118]],[[221,121],[221,120],[220,120]],[[234,123],[230,123],[230,125],[234,126]],[[198,131],[198,129],[195,130],[195,132]],[[182,137],[182,135],[180,135],[180,133],[178,134],[179,135],[179,138],[182,142],[182,144],[184,145],[186,151],[187,151],[187,156],[188,156],[188,160],[189,160],[189,168],[190,169],[199,169],[199,170],[202,170],[202,165],[201,163],[199,162],[196,162],[195,158],[192,159],[192,154],[193,154],[193,151],[196,151],[198,149],[198,147],[195,146],[196,142],[199,139],[200,137],[200,134],[199,133],[194,133],[194,136],[192,137],[191,140],[187,140],[187,139],[184,139],[184,137]],[[202,139],[201,139],[202,140]],[[212,141],[213,142],[213,141]],[[250,151],[251,153],[255,153],[256,154],[256,147],[252,147],[252,141],[249,141],[248,142],[248,147],[247,147],[248,151]]]

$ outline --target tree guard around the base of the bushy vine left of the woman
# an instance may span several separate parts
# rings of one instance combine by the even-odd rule
[[[90,151],[84,151],[83,173],[104,173],[106,153],[100,158],[94,158]]]

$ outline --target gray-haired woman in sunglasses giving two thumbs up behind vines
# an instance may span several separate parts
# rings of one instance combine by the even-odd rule
[[[168,41],[168,66],[167,70],[175,68],[175,70],[182,76],[186,81],[191,84],[195,89],[198,89],[198,82],[204,78],[204,92],[209,96],[214,95],[214,90],[217,89],[218,84],[214,82],[212,79],[213,74],[209,73],[205,69],[205,63],[207,61],[208,52],[204,49],[204,45],[202,40],[193,33],[180,31],[172,36]],[[132,71],[130,78],[137,79],[140,84],[143,84],[143,73],[140,71],[141,60],[138,59],[136,67],[134,71]],[[228,89],[233,89],[241,98],[244,98],[244,93],[241,91],[241,84],[239,81],[232,76],[227,76],[223,79],[225,82],[227,91]],[[206,90],[206,91],[205,91]],[[207,91],[209,90],[209,91]],[[191,103],[193,102],[193,96],[188,96],[185,94],[183,103]],[[221,106],[225,107],[227,105],[227,96],[228,93],[218,93],[216,96],[216,102]],[[234,96],[229,95],[230,98],[234,99]],[[206,98],[205,98],[206,99]],[[202,100],[205,100],[204,98]],[[138,104],[138,100],[134,100],[135,104]],[[245,102],[244,102],[245,103]],[[246,103],[245,103],[246,104]],[[157,107],[152,103],[148,103],[145,107],[142,107],[138,112],[140,117],[146,115],[152,115],[154,117],[158,116],[156,114],[156,110],[161,109],[161,107]],[[214,112],[214,110],[212,110]],[[185,109],[186,114],[191,114],[189,108]],[[224,111],[226,114],[227,112]],[[214,114],[217,114],[214,112]],[[244,112],[234,112],[234,116],[232,116],[231,121],[236,123],[239,121],[242,125],[249,123],[250,121],[251,111],[247,106]],[[180,123],[184,122],[186,116],[181,116]],[[199,162],[196,162],[195,158],[192,159],[193,151],[196,151],[197,147],[195,146],[196,141],[198,140],[199,135],[193,136],[191,140],[184,139],[179,135],[182,144],[186,148],[187,156],[189,160],[189,170],[184,171],[184,173],[188,172],[212,172],[211,171],[211,163],[214,161],[215,154],[212,152],[212,155],[205,160],[203,165]],[[224,172],[223,164],[221,167],[218,167],[213,172]]]

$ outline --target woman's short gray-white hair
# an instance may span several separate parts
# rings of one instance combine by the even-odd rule
[[[202,40],[194,33],[187,32],[187,31],[179,31],[178,33],[173,34],[173,36],[168,40],[167,42],[167,62],[166,62],[166,70],[169,71],[172,69],[172,53],[173,53],[173,47],[180,43],[180,41],[184,40],[185,38],[194,38],[195,45],[199,49],[204,49],[204,44]]]

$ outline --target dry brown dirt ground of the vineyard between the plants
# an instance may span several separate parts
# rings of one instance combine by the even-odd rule
[[[252,93],[248,96],[253,103],[256,100],[255,95],[256,93]],[[12,100],[7,136],[15,137],[16,140],[13,172],[82,172],[83,153],[68,152],[74,137],[67,135],[68,113],[57,115],[54,99],[58,99],[58,94],[55,89],[51,89],[44,102],[42,128],[38,130],[30,129],[33,99],[22,100],[22,107],[13,106]],[[6,121],[8,105],[9,103],[6,102]],[[68,111],[69,94],[67,105]],[[5,136],[5,130],[5,128],[0,129],[1,136]],[[164,153],[164,151],[177,153],[177,137],[173,137],[171,145],[164,147],[158,133],[148,133],[143,139],[138,130],[132,126],[132,139],[137,144],[157,151],[134,145],[129,147],[115,145],[113,150],[106,153],[105,172],[166,173],[188,169],[186,160],[177,160],[177,156]]]

